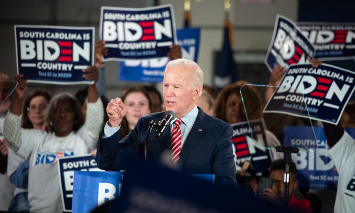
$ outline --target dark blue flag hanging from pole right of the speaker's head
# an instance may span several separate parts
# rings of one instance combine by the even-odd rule
[[[218,89],[222,89],[226,85],[238,80],[237,68],[229,40],[229,30],[231,28],[225,26],[223,47],[216,67],[214,85]]]

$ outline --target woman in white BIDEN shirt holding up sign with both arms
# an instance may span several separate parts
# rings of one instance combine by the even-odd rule
[[[20,128],[21,102],[27,86],[22,75],[15,77],[18,87],[5,118],[4,135],[8,146],[29,162],[30,212],[63,212],[58,158],[88,154],[96,147],[103,121],[103,106],[95,86],[97,68],[88,66],[83,77],[94,81],[88,85],[85,122],[79,101],[70,93],[60,93],[51,99],[45,112],[48,132]]]

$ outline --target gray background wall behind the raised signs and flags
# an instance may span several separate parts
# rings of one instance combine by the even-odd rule
[[[235,60],[249,63],[262,63],[262,53],[266,52],[273,31],[276,14],[281,14],[297,21],[297,0],[271,0],[269,4],[245,4],[245,0],[231,0],[230,20],[234,26],[233,50]],[[31,0],[2,1],[0,7],[1,72],[13,78],[17,74],[14,25],[61,25],[61,26],[94,26],[95,41],[98,40],[99,15],[101,6],[112,7],[149,7],[171,4],[174,9],[176,27],[183,27],[184,0]],[[214,58],[216,51],[222,46],[224,10],[223,0],[191,0],[192,27],[201,27],[198,64],[204,71],[205,84],[212,84]],[[254,54],[257,52],[258,54]],[[268,82],[268,75],[259,77],[253,69],[238,70],[243,80],[251,83]],[[260,79],[262,78],[262,79]],[[119,97],[122,91],[136,82],[118,81],[118,62],[106,64],[106,82],[108,98]],[[149,84],[149,83],[145,83]],[[155,85],[161,89],[160,84]],[[54,94],[62,91],[75,93],[85,85],[48,85],[29,84],[29,91],[38,88],[50,89]]]

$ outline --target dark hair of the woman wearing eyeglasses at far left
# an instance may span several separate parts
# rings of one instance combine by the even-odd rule
[[[31,102],[31,100],[37,96],[45,97],[47,100],[47,103],[49,103],[49,101],[52,98],[52,93],[48,90],[34,90],[27,95],[25,103],[22,108],[22,112],[23,112],[22,125],[21,125],[22,128],[33,129],[33,124],[28,118],[28,110],[27,109],[29,108],[29,103]]]

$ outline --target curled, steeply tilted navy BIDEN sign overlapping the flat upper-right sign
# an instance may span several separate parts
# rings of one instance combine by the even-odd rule
[[[307,62],[307,56],[313,58],[313,45],[290,19],[277,15],[270,47],[265,56],[265,64],[272,69],[280,64],[288,69],[291,64]]]

